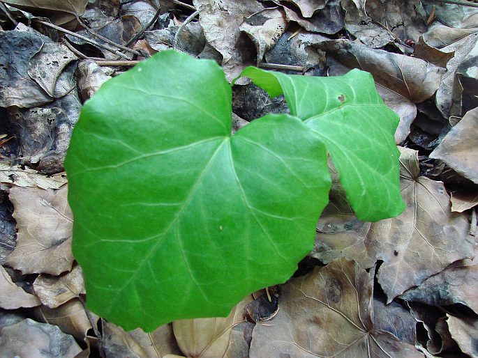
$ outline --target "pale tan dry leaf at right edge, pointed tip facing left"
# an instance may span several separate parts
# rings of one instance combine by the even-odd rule
[[[478,107],[468,111],[430,157],[478,184]]]

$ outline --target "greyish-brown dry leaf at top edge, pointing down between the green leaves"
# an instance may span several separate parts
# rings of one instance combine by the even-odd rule
[[[207,42],[223,56],[224,72],[232,81],[247,65],[254,64],[239,26],[244,18],[260,13],[265,7],[251,0],[193,0],[193,4],[200,12],[199,22]]]

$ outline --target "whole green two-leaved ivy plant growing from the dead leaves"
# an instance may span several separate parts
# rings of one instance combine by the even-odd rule
[[[65,166],[91,311],[151,331],[227,316],[248,293],[289,279],[329,201],[327,152],[359,219],[403,210],[398,116],[370,74],[242,76],[283,93],[290,114],[232,135],[223,70],[173,51],[84,104]]]

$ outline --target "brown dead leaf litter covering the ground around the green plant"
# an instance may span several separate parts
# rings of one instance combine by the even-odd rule
[[[43,357],[37,352],[46,347],[55,347],[53,357],[81,351],[82,357],[368,357],[370,350],[373,357],[476,357],[478,280],[470,235],[476,230],[470,225],[476,226],[478,202],[478,9],[476,2],[449,2],[3,1],[0,134],[13,139],[0,144],[0,247],[6,256],[0,302],[8,310],[0,319],[7,322],[20,306],[37,308],[27,320],[19,323],[17,316],[1,326],[1,351],[31,357]],[[186,23],[195,10],[198,15]],[[62,28],[40,24],[35,16],[74,35],[66,38]],[[138,39],[143,45],[133,50]],[[281,286],[271,320],[246,322],[238,306],[231,322],[174,322],[147,334],[103,321],[101,331],[81,302],[63,159],[80,104],[133,61],[175,44],[216,59],[228,79],[250,64],[285,65],[281,70],[304,75],[370,71],[401,117],[396,143],[408,148],[402,151],[401,185],[409,207],[394,219],[359,221],[337,181],[311,254],[326,266]],[[271,110],[288,111],[280,98],[246,89],[254,86],[246,82],[233,88],[234,111],[242,117],[234,117],[236,127]],[[415,143],[417,133],[431,139],[425,148]],[[447,166],[471,182],[432,180],[433,168]],[[427,315],[435,318],[425,322]],[[226,329],[218,330],[220,340],[204,336],[220,325]],[[428,340],[415,327],[428,332]],[[201,346],[198,339],[201,352],[193,351]],[[421,352],[413,347],[418,341]]]

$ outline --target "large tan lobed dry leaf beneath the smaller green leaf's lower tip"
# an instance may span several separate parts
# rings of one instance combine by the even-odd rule
[[[402,149],[401,192],[407,204],[398,217],[375,223],[357,220],[334,201],[318,223],[316,250],[328,260],[345,256],[362,267],[384,260],[378,281],[388,302],[412,286],[445,269],[450,263],[472,257],[475,240],[463,214],[451,212],[442,182],[419,176],[417,152]]]

